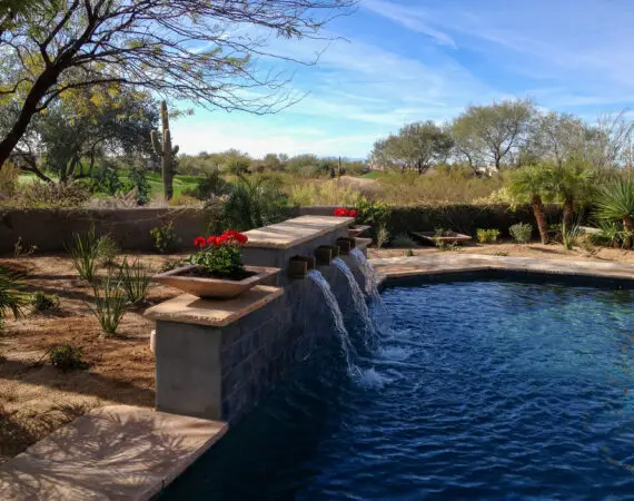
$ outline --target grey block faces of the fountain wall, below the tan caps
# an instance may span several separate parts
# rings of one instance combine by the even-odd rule
[[[289,248],[245,249],[245,263],[283,268],[284,294],[229,325],[215,327],[157,320],[156,407],[159,411],[235,422],[335,330],[317,284],[289,279],[286,262],[313,255],[318,245],[346,234],[337,228]],[[355,262],[343,256],[354,269]],[[330,283],[344,314],[351,299],[346,277],[334,265],[318,269]],[[356,273],[361,281],[360,273]]]

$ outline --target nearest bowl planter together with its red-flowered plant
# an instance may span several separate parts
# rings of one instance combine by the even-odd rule
[[[229,299],[279,273],[279,268],[245,266],[246,235],[227,230],[218,236],[195,238],[198,249],[189,264],[155,276],[155,281],[209,299]]]

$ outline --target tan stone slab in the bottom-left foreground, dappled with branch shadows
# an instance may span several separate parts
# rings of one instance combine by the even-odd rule
[[[7,462],[0,470],[0,499],[149,499],[227,428],[128,405],[97,409]]]

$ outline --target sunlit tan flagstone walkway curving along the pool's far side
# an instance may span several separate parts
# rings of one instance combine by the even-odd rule
[[[387,281],[417,275],[442,275],[487,269],[634,279],[634,265],[631,264],[504,257],[450,252],[372,259],[370,263],[378,275]]]

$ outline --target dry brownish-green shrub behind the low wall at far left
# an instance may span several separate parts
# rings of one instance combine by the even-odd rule
[[[78,207],[90,198],[90,190],[78,183],[29,183],[14,199],[24,207]]]

